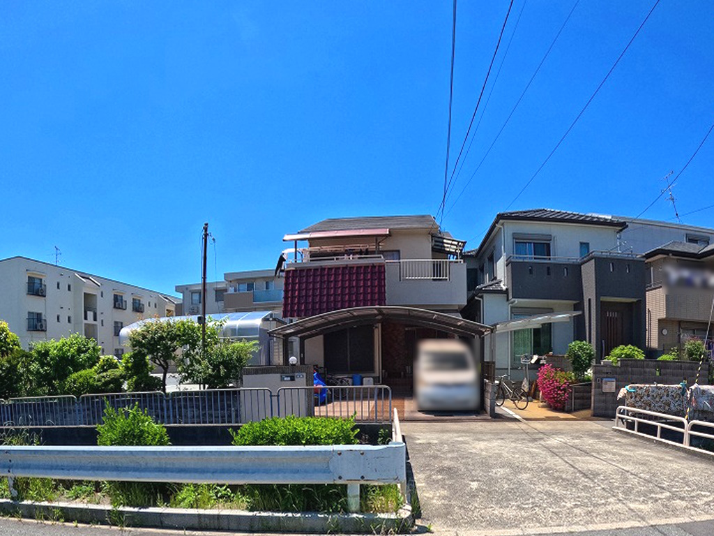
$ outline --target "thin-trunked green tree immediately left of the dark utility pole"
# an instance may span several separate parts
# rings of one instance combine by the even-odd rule
[[[129,346],[134,358],[148,357],[161,369],[161,390],[166,392],[166,375],[179,352],[186,358],[201,351],[201,326],[190,319],[149,320],[129,334]]]

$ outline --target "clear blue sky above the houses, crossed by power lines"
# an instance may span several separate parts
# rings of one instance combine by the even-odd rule
[[[443,222],[472,247],[652,6],[581,0],[452,206],[574,1],[513,4]],[[507,8],[458,6],[452,154]],[[644,209],[714,121],[712,20],[711,2],[661,1],[511,208]],[[449,1],[2,2],[0,257],[54,262],[56,245],[67,267],[171,292],[200,277],[204,221],[220,279],[273,267],[283,234],[326,217],[435,214],[450,53]],[[713,164],[714,136],[674,188],[680,214],[714,204]],[[663,198],[645,216],[673,214]]]

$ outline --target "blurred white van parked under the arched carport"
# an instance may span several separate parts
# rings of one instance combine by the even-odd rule
[[[414,394],[420,411],[476,411],[478,368],[459,339],[424,339],[414,362]]]

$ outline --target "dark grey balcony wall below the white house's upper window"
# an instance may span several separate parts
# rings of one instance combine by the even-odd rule
[[[583,295],[580,259],[511,255],[506,259],[506,284],[513,299],[579,302]]]

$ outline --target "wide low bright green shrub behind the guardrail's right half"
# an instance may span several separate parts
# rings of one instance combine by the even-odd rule
[[[231,430],[233,445],[354,445],[358,430],[354,417],[273,417],[248,422]]]

